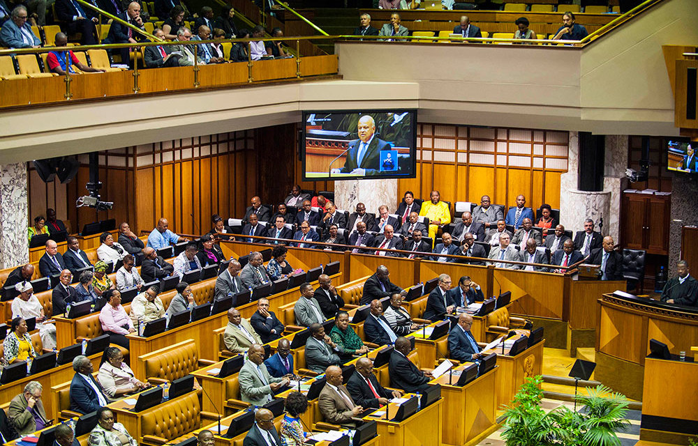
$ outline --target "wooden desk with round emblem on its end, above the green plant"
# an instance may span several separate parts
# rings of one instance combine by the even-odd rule
[[[515,339],[511,338],[511,339]],[[499,367],[497,378],[497,408],[510,404],[514,395],[519,392],[526,378],[542,374],[543,347],[545,340],[535,346],[526,348],[516,356],[510,356],[510,348],[493,348],[487,353],[497,353],[497,365]]]

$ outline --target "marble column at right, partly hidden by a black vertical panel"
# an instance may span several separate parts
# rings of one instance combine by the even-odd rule
[[[560,176],[560,223],[576,233],[584,229],[584,220],[591,218],[598,224],[603,217],[601,233],[611,235],[618,242],[621,210],[621,178],[625,176],[625,157],[628,156],[628,137],[606,137],[604,160],[604,190],[578,190],[579,134],[570,132],[567,173]]]

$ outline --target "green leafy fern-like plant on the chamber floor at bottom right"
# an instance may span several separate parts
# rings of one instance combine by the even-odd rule
[[[616,431],[629,422],[628,400],[599,385],[578,395],[579,412],[560,406],[549,413],[540,408],[542,377],[527,378],[505,411],[502,437],[507,446],[620,446]]]

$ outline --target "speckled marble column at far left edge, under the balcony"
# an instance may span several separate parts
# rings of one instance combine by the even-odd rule
[[[0,269],[29,262],[27,163],[0,166]]]

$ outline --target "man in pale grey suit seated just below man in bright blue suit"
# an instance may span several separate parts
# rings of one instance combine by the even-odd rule
[[[240,384],[240,399],[253,406],[264,406],[274,399],[274,392],[288,385],[289,378],[274,378],[264,364],[264,347],[252,344],[247,351],[247,360],[240,369],[238,376]]]

